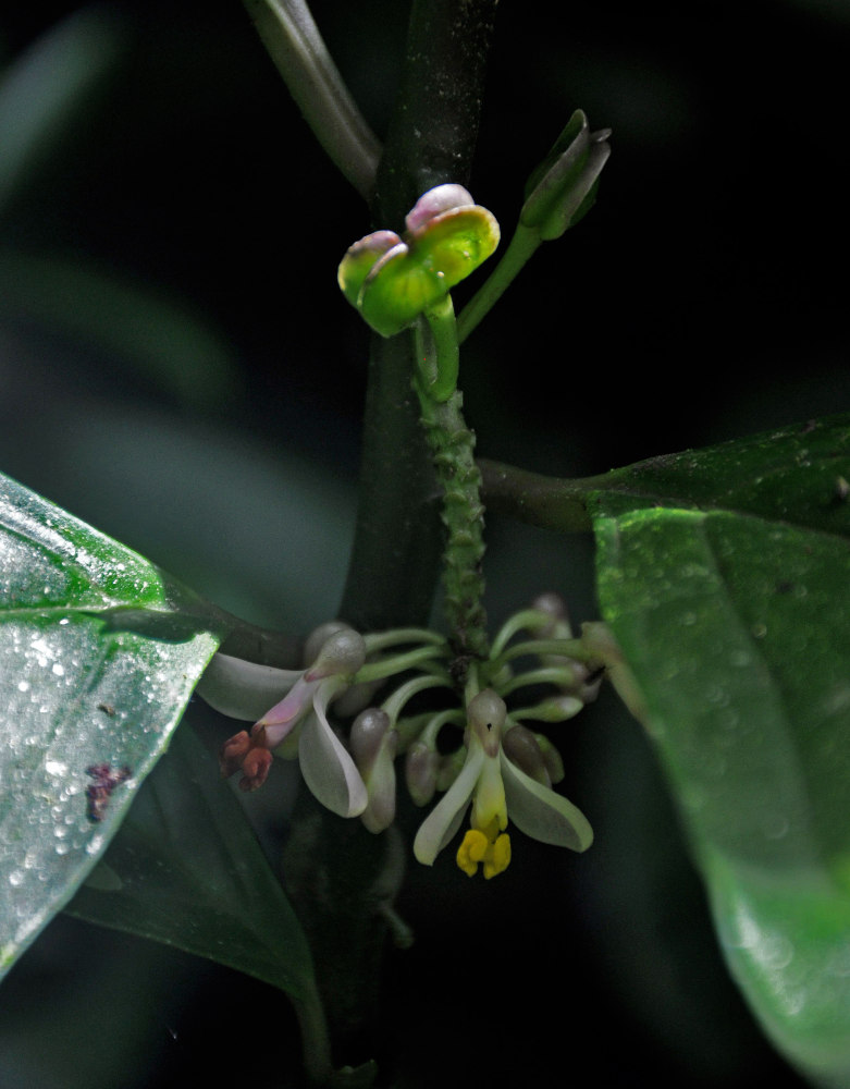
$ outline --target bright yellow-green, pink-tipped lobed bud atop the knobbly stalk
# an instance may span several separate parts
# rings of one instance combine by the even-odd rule
[[[498,223],[463,185],[423,193],[403,236],[375,231],[356,242],[337,271],[340,287],[368,323],[392,337],[444,298],[498,245]]]

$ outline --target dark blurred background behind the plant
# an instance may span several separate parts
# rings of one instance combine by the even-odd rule
[[[406,8],[313,5],[379,134]],[[579,476],[845,411],[850,3],[542,8],[501,4],[473,196],[507,234],[576,107],[614,150],[590,216],[465,347],[481,453]],[[7,79],[70,15],[96,78],[0,188],[0,470],[304,632],[345,577],[367,334],[335,269],[366,209],[236,0],[9,4]],[[593,616],[588,542],[488,533],[494,620],[550,587]],[[604,696],[564,752],[588,855],[522,841],[486,886],[451,858],[410,869],[385,1068],[416,1089],[798,1085],[725,976],[633,724]],[[271,1087],[295,1065],[285,998],[70,919],[2,999],[3,1089],[153,1089],[210,1059]]]

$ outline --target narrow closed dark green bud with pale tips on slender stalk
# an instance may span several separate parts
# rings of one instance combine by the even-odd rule
[[[576,110],[546,158],[526,185],[519,213],[523,227],[543,241],[559,238],[591,209],[599,175],[611,155],[609,129],[590,132],[582,110]]]

